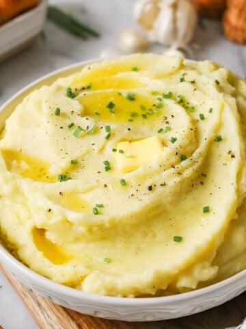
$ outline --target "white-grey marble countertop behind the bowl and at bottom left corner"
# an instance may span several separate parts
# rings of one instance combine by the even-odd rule
[[[133,0],[50,2],[77,14],[100,31],[101,38],[79,40],[46,22],[43,36],[38,36],[27,49],[0,63],[0,106],[20,88],[46,73],[74,62],[98,58],[102,49],[117,50],[118,33],[136,27],[132,16]],[[195,60],[214,60],[246,77],[246,47],[226,40],[219,22],[204,21],[204,28],[197,26],[193,42]],[[163,50],[164,47],[159,45],[149,49],[154,53]],[[38,328],[1,271],[0,287],[0,326],[4,329]]]

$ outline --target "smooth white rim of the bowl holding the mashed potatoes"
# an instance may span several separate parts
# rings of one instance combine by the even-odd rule
[[[46,0],[44,0],[45,2]],[[76,62],[74,64],[70,64],[67,66],[62,67],[61,69],[57,69],[55,71],[52,71],[49,74],[43,75],[42,77],[39,77],[38,79],[34,80],[24,88],[21,88],[17,93],[12,95],[10,99],[5,101],[0,106],[0,113],[5,110],[5,108],[8,108],[12,101],[20,97],[22,94],[26,93],[30,88],[35,87],[40,82],[49,79],[50,77],[53,77],[59,73],[65,73],[66,71],[70,71],[75,68],[86,66],[88,64],[100,62],[102,60],[100,59],[92,59],[92,60],[83,60],[81,62]],[[190,62],[189,60],[187,60]],[[193,62],[193,61],[192,61]],[[38,88],[38,87],[37,87]],[[23,96],[24,97],[24,96]],[[230,278],[226,278],[225,280],[221,280],[220,282],[217,282],[215,284],[210,284],[207,287],[196,289],[193,291],[189,291],[186,293],[178,293],[176,295],[168,295],[168,296],[159,296],[159,297],[118,297],[118,296],[107,296],[107,295],[99,295],[96,293],[87,293],[86,291],[81,291],[78,289],[74,289],[71,287],[68,287],[64,284],[57,283],[49,278],[45,278],[41,274],[37,273],[36,271],[33,271],[32,269],[29,269],[26,265],[21,263],[17,258],[12,256],[10,252],[8,252],[3,245],[0,243],[0,263],[9,264],[10,267],[15,269],[16,272],[20,272],[25,276],[25,278],[28,278],[31,282],[35,282],[38,287],[46,287],[46,289],[49,289],[50,291],[53,291],[54,293],[57,293],[60,295],[63,293],[64,295],[68,297],[73,297],[78,300],[85,299],[87,302],[102,302],[103,304],[107,304],[108,306],[163,306],[164,304],[169,303],[175,303],[175,302],[182,302],[184,300],[191,300],[193,298],[200,298],[204,297],[204,295],[210,295],[210,293],[216,293],[217,291],[221,291],[221,289],[225,288],[226,286],[229,286],[230,284],[234,284],[236,282],[239,282],[245,278],[246,281],[246,269],[243,269],[242,271],[234,274],[234,276],[231,276]]]

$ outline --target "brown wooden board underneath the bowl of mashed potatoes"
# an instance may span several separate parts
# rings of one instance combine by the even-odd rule
[[[82,315],[34,293],[5,271],[40,329],[225,329],[241,324],[246,317],[246,293],[203,313],[180,319],[152,322],[124,322]]]

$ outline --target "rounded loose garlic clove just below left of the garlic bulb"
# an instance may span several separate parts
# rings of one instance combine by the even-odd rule
[[[148,41],[137,32],[126,29],[118,35],[118,45],[120,49],[128,53],[142,51],[148,47]]]

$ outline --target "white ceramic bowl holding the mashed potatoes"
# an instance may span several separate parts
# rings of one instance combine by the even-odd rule
[[[55,71],[20,90],[0,108],[0,130],[3,129],[5,120],[13,112],[16,105],[31,90],[43,84],[51,84],[57,80],[57,77],[72,74],[85,64],[92,62],[95,61],[81,62]],[[49,298],[52,302],[72,308],[72,310],[77,310],[80,313],[107,319],[155,321],[183,317],[223,304],[246,290],[246,270],[244,270],[217,284],[179,295],[149,298],[108,297],[68,288],[40,276],[16,260],[1,246],[1,241],[0,262],[5,269],[25,283],[27,287]]]

